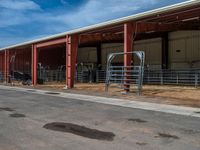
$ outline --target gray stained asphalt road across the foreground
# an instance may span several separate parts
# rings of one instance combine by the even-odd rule
[[[200,118],[0,89],[0,150],[137,149],[200,150]]]

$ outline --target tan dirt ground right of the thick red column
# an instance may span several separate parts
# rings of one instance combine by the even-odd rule
[[[75,89],[78,91],[87,91],[88,93],[93,94],[99,93],[99,95],[105,93],[104,84],[79,84],[75,87]],[[142,100],[146,102],[163,103],[170,105],[200,107],[200,89],[194,87],[145,85],[143,86],[141,99],[139,98],[140,96],[137,95],[136,91],[124,94],[120,89],[110,88],[107,96],[134,101]]]

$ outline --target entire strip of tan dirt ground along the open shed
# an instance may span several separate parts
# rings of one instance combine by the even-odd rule
[[[109,92],[105,92],[105,84],[79,83],[75,84],[74,89],[67,90],[64,89],[64,83],[50,83],[48,85],[38,85],[36,87],[23,87],[104,97],[114,97],[125,100],[200,107],[200,89],[190,86],[145,85],[143,86],[142,96],[138,96],[136,91],[125,94],[121,91],[121,89],[114,87],[110,87]]]

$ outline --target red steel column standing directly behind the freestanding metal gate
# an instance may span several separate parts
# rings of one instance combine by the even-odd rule
[[[132,54],[126,54],[126,53],[133,51],[134,31],[135,31],[135,24],[132,24],[132,23],[124,24],[124,53],[125,53],[124,54],[124,69],[125,69],[124,88],[126,92],[130,91],[130,85],[128,81],[128,74],[129,74],[128,70],[130,68],[127,68],[127,67],[131,66],[131,59],[132,59]]]

